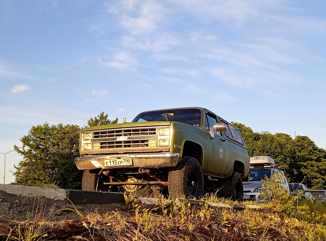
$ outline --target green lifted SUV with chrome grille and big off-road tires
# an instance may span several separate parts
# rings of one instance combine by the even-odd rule
[[[81,130],[82,189],[199,198],[217,191],[243,200],[249,157],[239,130],[199,107],[153,110],[132,122]]]

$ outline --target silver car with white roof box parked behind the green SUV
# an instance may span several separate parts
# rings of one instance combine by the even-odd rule
[[[275,174],[281,177],[281,185],[290,194],[288,180],[284,172],[277,170],[274,159],[269,156],[255,156],[250,158],[249,181],[243,182],[244,200],[258,203],[266,202],[259,191],[267,194],[262,186],[262,179],[273,177]]]

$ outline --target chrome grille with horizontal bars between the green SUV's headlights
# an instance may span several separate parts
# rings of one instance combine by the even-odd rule
[[[103,130],[92,133],[92,149],[156,147],[156,128]]]

